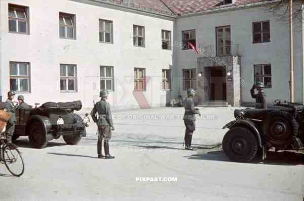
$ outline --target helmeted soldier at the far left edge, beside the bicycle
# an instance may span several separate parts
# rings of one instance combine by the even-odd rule
[[[11,117],[6,125],[6,131],[8,133],[8,142],[12,143],[12,137],[15,132],[15,122],[16,122],[16,107],[14,106],[13,99],[14,99],[15,92],[9,91],[8,92],[8,99],[4,103],[4,108],[7,110],[8,113],[11,114]]]

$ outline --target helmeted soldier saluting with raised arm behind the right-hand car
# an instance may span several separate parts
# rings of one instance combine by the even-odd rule
[[[254,89],[257,93],[254,93]],[[255,98],[255,108],[267,109],[266,94],[264,93],[264,84],[262,82],[256,82],[250,89],[251,97]]]

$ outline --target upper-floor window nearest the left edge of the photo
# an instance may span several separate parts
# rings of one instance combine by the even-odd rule
[[[9,4],[9,31],[16,33],[29,33],[28,7]]]

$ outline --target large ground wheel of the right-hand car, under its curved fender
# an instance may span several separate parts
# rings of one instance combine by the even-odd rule
[[[223,151],[232,161],[249,162],[258,149],[254,133],[246,127],[234,127],[228,130],[222,142]]]

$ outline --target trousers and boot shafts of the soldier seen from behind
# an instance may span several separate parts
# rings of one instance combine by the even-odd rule
[[[97,141],[97,154],[102,155],[102,140],[105,155],[109,155],[109,139],[111,138],[111,126],[100,125],[98,126],[98,141]]]

